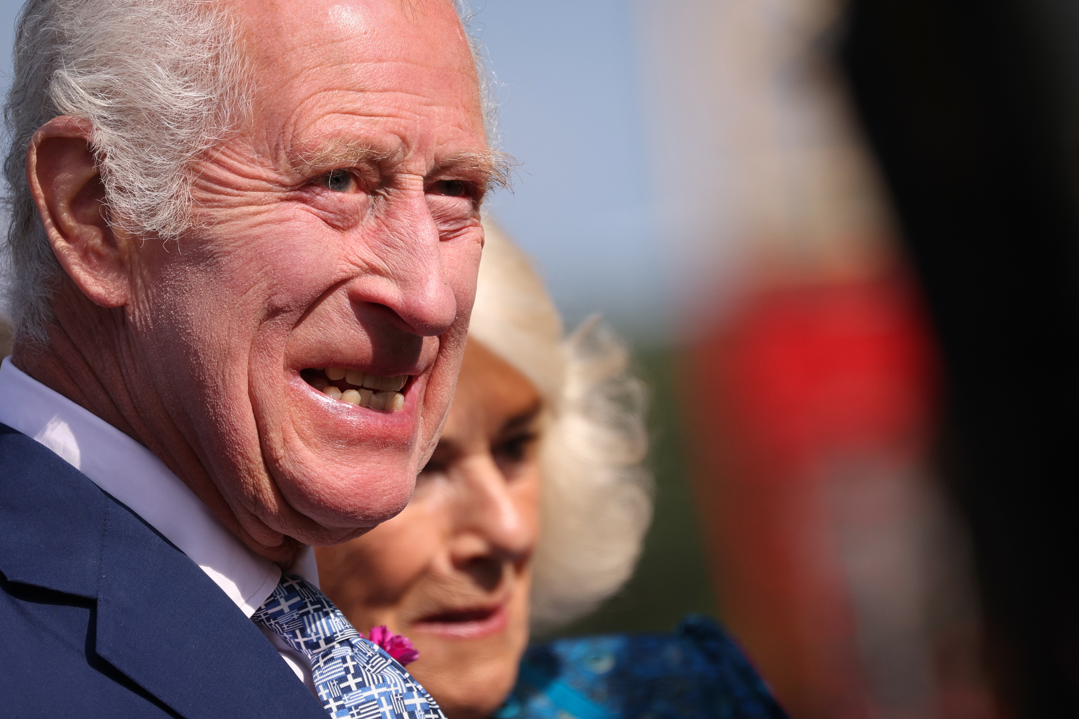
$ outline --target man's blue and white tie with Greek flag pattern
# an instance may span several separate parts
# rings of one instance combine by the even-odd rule
[[[334,719],[446,719],[397,660],[302,577],[283,575],[251,619],[311,660],[318,699]]]

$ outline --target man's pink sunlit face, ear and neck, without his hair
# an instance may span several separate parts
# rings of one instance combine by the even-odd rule
[[[450,2],[235,8],[250,120],[196,163],[178,243],[105,222],[85,121],[35,136],[31,191],[69,279],[49,346],[14,361],[286,565],[407,503],[464,350],[492,163]],[[300,376],[328,365],[411,375],[404,410]]]

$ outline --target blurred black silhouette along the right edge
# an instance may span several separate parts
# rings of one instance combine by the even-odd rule
[[[1079,716],[1079,6],[855,0],[843,63],[944,361],[989,669]]]

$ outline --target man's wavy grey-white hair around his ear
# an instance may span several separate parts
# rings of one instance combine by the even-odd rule
[[[453,2],[467,29],[466,0]],[[476,59],[488,134],[494,102]],[[0,262],[18,337],[44,342],[49,301],[63,277],[26,178],[39,127],[88,120],[108,220],[162,241],[189,226],[192,163],[244,120],[251,75],[237,24],[213,0],[29,0],[15,28],[4,106],[10,210]]]

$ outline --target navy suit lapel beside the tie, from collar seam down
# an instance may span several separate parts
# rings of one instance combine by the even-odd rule
[[[326,718],[255,623],[119,503],[106,521],[97,612],[97,653],[188,719]]]

